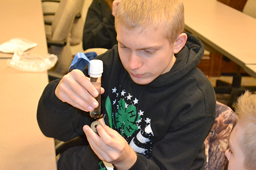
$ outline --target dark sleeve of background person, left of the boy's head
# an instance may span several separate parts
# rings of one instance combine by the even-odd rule
[[[83,50],[88,48],[112,48],[117,43],[115,17],[108,4],[94,0],[88,10],[83,28]]]

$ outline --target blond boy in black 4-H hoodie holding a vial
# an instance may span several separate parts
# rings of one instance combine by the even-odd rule
[[[204,139],[215,118],[215,92],[196,68],[204,47],[183,33],[179,0],[122,0],[118,44],[103,61],[98,134],[88,111],[98,106],[88,66],[51,82],[37,119],[48,137],[67,141],[86,134],[90,145],[61,154],[58,168],[204,169]],[[72,105],[72,106],[71,106]]]

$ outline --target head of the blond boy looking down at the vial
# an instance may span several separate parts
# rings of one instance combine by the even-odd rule
[[[168,72],[185,45],[180,0],[122,0],[115,15],[118,53],[132,80],[149,84]]]

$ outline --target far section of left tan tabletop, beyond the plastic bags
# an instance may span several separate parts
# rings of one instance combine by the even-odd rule
[[[46,56],[47,41],[40,0],[0,0],[0,44],[12,38],[25,38],[38,43],[33,53]],[[0,57],[12,54],[0,52]]]

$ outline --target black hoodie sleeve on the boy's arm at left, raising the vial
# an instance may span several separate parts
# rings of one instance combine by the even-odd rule
[[[37,122],[45,136],[68,141],[84,134],[83,125],[90,125],[92,118],[88,112],[74,108],[57,98],[54,91],[59,81],[50,82],[42,93],[37,107]]]

